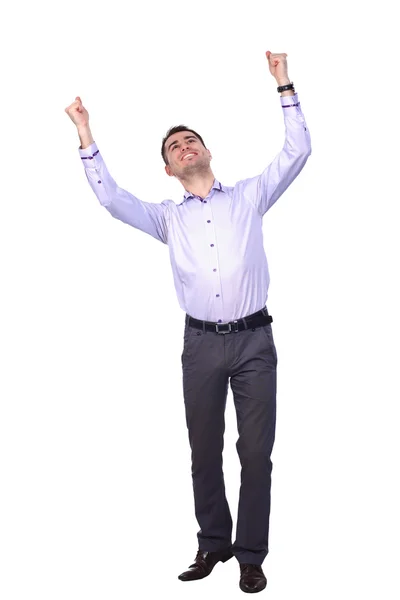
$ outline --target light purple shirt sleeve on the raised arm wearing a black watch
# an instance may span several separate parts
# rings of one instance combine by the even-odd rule
[[[311,154],[310,132],[297,94],[281,96],[285,142],[271,164],[256,177],[239,181],[235,187],[263,216],[297,177]]]

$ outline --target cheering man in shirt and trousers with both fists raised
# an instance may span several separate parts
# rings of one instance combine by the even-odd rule
[[[271,452],[275,438],[277,355],[268,314],[269,273],[262,217],[297,177],[310,136],[290,82],[286,54],[266,52],[285,122],[283,149],[257,177],[222,185],[202,137],[186,126],[162,141],[165,171],[183,185],[183,202],[142,202],[117,186],[95,144],[89,115],[76,98],[67,114],[78,128],[86,177],[111,215],[168,244],[174,282],[186,312],[182,354],[186,423],[192,451],[196,518],[194,563],[182,581],[208,576],[235,556],[240,589],[266,586]],[[237,413],[241,487],[236,540],[222,470],[224,411],[230,380]]]

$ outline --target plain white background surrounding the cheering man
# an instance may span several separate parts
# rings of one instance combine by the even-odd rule
[[[91,191],[79,95],[107,167],[150,202],[185,123],[226,185],[283,144],[265,51],[287,52],[312,138],[264,217],[278,352],[265,597],[399,598],[398,31],[388,2],[32,2],[1,24],[2,600],[243,597],[192,562],[184,312],[168,248]],[[397,55],[396,55],[397,52]],[[224,452],[236,519],[231,392]]]

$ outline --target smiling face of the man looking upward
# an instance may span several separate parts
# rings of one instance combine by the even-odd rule
[[[164,147],[168,161],[165,171],[170,177],[191,177],[210,168],[210,151],[191,131],[171,135]]]

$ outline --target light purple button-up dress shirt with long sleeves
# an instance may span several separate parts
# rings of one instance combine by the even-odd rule
[[[233,187],[214,180],[206,198],[184,194],[151,203],[120,188],[95,142],[79,153],[90,187],[109,213],[168,244],[181,308],[196,319],[227,323],[266,305],[269,271],[262,217],[297,177],[311,154],[297,94],[280,96],[285,143],[256,177]]]

